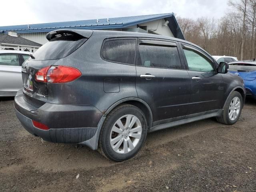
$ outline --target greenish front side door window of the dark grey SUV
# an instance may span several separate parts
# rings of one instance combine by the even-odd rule
[[[197,52],[196,50],[183,48],[189,70],[202,71],[202,72],[214,72],[212,62],[209,58]]]

